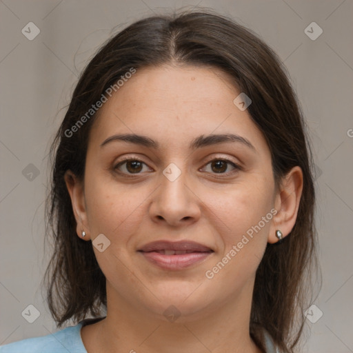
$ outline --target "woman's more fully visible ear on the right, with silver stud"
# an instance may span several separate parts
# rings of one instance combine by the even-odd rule
[[[276,230],[281,230],[283,238],[288,236],[296,222],[296,216],[301,201],[303,191],[303,172],[299,166],[296,166],[283,177],[279,190],[276,193],[274,208],[277,213],[273,217],[268,234],[268,243],[276,243],[279,239],[276,237]]]

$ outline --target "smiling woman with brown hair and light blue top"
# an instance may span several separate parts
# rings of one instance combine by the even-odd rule
[[[133,23],[85,68],[52,155],[48,304],[75,324],[1,353],[294,352],[310,148],[252,32],[210,12]]]

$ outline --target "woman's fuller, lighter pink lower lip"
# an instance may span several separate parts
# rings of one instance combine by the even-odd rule
[[[165,270],[183,270],[195,263],[205,261],[212,252],[190,252],[190,254],[164,255],[159,252],[141,252],[145,259]]]

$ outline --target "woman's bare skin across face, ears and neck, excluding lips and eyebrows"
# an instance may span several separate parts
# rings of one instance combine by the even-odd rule
[[[263,134],[233,103],[239,94],[214,68],[164,65],[138,70],[101,108],[84,183],[70,170],[65,174],[77,235],[85,230],[85,241],[99,234],[110,240],[103,252],[93,247],[107,280],[108,309],[106,319],[81,330],[88,353],[261,352],[248,329],[255,272],[267,243],[278,241],[276,230],[286,236],[294,226],[303,175],[295,167],[276,188]],[[125,133],[160,146],[113,141],[101,147]],[[254,150],[240,142],[189,149],[201,134],[229,133],[248,139]],[[122,157],[143,164],[135,174],[129,163],[114,170]],[[241,169],[210,163],[224,159]],[[174,181],[163,175],[170,163],[181,171]],[[276,215],[206,278],[273,208]],[[161,239],[196,241],[214,253],[185,270],[163,270],[137,252]],[[174,322],[163,315],[170,305],[181,313]]]

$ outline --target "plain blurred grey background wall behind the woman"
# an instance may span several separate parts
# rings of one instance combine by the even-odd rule
[[[0,344],[55,330],[40,289],[49,256],[43,252],[47,154],[79,72],[112,28],[196,5],[254,30],[290,72],[317,167],[323,274],[315,302],[323,316],[307,320],[304,351],[353,352],[352,0],[0,0]],[[40,30],[32,41],[21,33],[30,21]],[[314,41],[304,32],[312,21],[323,29]],[[21,316],[30,304],[41,313],[32,324]]]

